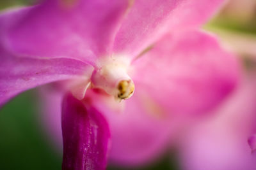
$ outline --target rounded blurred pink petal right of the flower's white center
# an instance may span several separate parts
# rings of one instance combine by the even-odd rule
[[[136,60],[132,79],[171,115],[198,114],[214,108],[234,89],[237,65],[214,37],[187,31],[164,36]]]

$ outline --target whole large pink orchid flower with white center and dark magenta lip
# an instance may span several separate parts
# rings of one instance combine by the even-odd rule
[[[58,117],[61,99],[63,169],[104,169],[110,138],[111,160],[151,160],[182,117],[211,110],[236,85],[236,59],[195,30],[221,2],[49,0],[7,11],[0,104],[58,81],[44,110]]]

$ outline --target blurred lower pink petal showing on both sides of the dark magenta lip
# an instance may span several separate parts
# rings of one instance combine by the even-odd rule
[[[44,120],[45,131],[51,135],[60,150],[61,92],[51,86],[44,89],[40,96],[44,112],[41,120]],[[115,164],[134,166],[156,160],[165,152],[169,145],[170,133],[175,125],[179,124],[176,119],[173,119],[173,122],[166,119],[168,115],[162,113],[157,104],[144,101],[138,93],[124,103],[117,103],[109,96],[88,90],[84,101],[97,107],[109,122],[113,144],[109,157]]]

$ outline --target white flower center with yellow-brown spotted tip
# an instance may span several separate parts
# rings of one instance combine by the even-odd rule
[[[134,83],[127,74],[129,60],[111,58],[99,62],[92,74],[93,87],[105,90],[118,100],[128,99],[134,92]]]

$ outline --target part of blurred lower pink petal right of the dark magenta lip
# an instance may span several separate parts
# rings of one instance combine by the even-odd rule
[[[143,165],[157,160],[165,152],[173,124],[157,105],[148,103],[151,107],[147,106],[139,93],[121,103],[95,90],[86,93],[85,99],[90,100],[109,122],[111,162],[125,166]],[[155,110],[150,110],[154,107]]]

